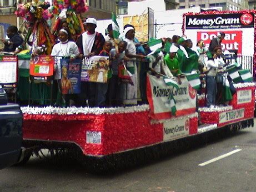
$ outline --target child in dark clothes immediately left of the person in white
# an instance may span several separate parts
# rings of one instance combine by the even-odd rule
[[[111,70],[112,70],[112,77],[109,79],[108,83],[108,93],[107,93],[107,103],[109,106],[111,105],[119,105],[121,104],[121,100],[123,98],[124,92],[122,92],[122,87],[125,84],[119,84],[118,79],[118,66],[122,64],[124,61],[128,61],[129,58],[126,57],[126,48],[127,42],[121,41],[118,44],[118,50],[111,49],[110,57],[111,57]]]

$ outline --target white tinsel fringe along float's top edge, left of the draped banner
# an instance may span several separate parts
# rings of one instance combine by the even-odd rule
[[[132,107],[112,107],[112,108],[89,108],[89,107],[21,107],[24,114],[58,114],[58,115],[73,115],[73,114],[117,114],[117,113],[134,113],[145,112],[149,110],[149,105],[136,105]]]

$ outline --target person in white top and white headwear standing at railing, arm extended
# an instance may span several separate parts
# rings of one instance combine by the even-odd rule
[[[132,73],[132,84],[126,84],[126,94],[124,95],[124,104],[137,104],[137,87],[138,87],[138,74],[137,74],[137,62],[136,59],[145,58],[144,55],[136,54],[136,47],[133,41],[135,36],[135,30],[133,27],[127,27],[124,29],[124,41],[127,42],[126,56],[130,59],[126,62],[127,70]]]

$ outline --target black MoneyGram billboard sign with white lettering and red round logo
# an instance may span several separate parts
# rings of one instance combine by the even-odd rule
[[[185,29],[235,29],[254,27],[251,13],[201,14],[186,16]]]

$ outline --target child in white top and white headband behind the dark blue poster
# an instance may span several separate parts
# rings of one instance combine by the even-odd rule
[[[71,36],[67,28],[62,28],[58,33],[59,43],[55,44],[52,48],[51,55],[55,58],[54,64],[54,79],[58,83],[58,92],[57,92],[57,100],[56,105],[62,105],[61,98],[61,59],[62,58],[70,58],[72,60],[76,59],[79,55],[79,50],[77,44],[71,41]],[[69,105],[69,98],[67,98],[67,94],[63,95],[66,97],[66,107]],[[65,99],[64,99],[65,102]]]

